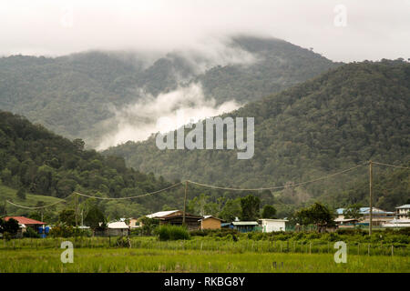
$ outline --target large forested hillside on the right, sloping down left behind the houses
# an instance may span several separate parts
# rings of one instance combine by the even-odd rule
[[[255,117],[255,155],[249,160],[238,160],[232,150],[160,151],[153,137],[110,148],[105,154],[124,156],[128,166],[169,179],[188,178],[220,186],[281,186],[369,159],[407,163],[409,112],[410,64],[400,60],[353,63],[231,113]],[[367,168],[361,167],[275,196],[286,204],[313,198],[334,206],[354,202],[355,198],[343,200],[336,194],[367,179],[367,173]],[[393,206],[387,202],[387,192],[377,196],[378,206]],[[404,201],[404,195],[409,195],[408,184],[407,192],[400,192],[397,196],[402,198],[395,202]],[[362,196],[357,192],[358,201]]]

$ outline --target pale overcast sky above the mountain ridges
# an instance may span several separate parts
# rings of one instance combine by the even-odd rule
[[[409,58],[410,0],[0,0],[0,55],[163,52],[236,34],[275,36],[334,61]]]

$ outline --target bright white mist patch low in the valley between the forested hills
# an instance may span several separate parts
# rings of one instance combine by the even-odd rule
[[[214,99],[206,99],[201,86],[197,84],[179,87],[157,97],[145,95],[137,103],[116,111],[116,116],[108,123],[114,123],[117,128],[101,138],[102,142],[97,150],[117,146],[128,140],[142,141],[152,133],[166,133],[190,122],[227,113],[239,107],[235,101],[217,105]],[[167,123],[161,120],[167,120]]]

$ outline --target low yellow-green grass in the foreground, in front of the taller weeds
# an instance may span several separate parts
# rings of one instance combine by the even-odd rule
[[[73,264],[62,264],[61,250],[0,251],[0,272],[409,272],[408,257],[348,256],[336,264],[327,254],[232,254],[216,251],[148,249],[76,249]],[[275,266],[274,263],[277,263]],[[282,267],[283,262],[283,267]]]

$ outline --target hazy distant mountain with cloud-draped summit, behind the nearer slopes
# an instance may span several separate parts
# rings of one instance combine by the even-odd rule
[[[98,146],[108,132],[119,130],[122,108],[180,87],[200,85],[213,106],[229,100],[244,104],[336,65],[297,45],[249,36],[209,50],[162,56],[98,51],[55,58],[12,55],[0,58],[0,109]],[[131,123],[143,119],[138,113],[127,118]]]

